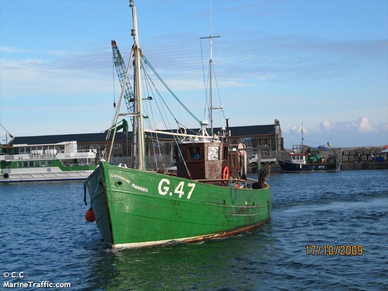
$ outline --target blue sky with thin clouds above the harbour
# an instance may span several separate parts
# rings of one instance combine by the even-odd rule
[[[120,96],[111,40],[128,62],[128,4],[0,0],[0,123],[11,134],[109,128]],[[211,33],[220,36],[213,39],[213,106],[221,100],[224,108],[214,112],[215,127],[224,115],[229,126],[276,118],[287,148],[300,142],[302,122],[311,146],[388,144],[388,1],[135,0],[135,6],[143,54],[198,119],[208,119],[209,39],[200,37]],[[175,118],[197,128],[157,86]],[[145,114],[151,117],[152,106],[149,121],[163,129],[155,99],[146,101]],[[165,110],[167,128],[176,128]]]

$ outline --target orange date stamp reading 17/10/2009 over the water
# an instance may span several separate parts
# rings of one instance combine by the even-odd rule
[[[364,252],[362,245],[346,245],[346,244],[337,244],[337,245],[320,245],[320,244],[310,244],[306,245],[307,256],[361,256]]]

